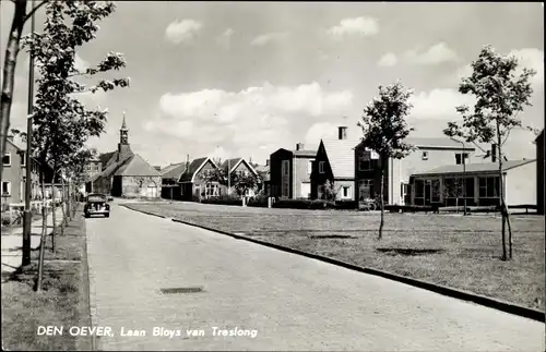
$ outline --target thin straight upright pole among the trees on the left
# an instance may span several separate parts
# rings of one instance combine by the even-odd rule
[[[34,39],[34,1],[32,2],[32,19],[31,19],[31,37]],[[31,49],[31,60],[28,68],[28,117],[26,118],[26,179],[25,179],[25,209],[23,211],[23,260],[22,265],[31,264],[31,230],[32,230],[32,211],[31,211],[31,193],[32,193],[32,135],[33,135],[33,111],[34,111],[34,48]]]

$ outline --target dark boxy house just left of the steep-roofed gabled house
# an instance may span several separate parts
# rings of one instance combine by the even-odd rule
[[[281,148],[270,156],[270,196],[276,198],[310,198],[311,171],[317,150],[305,149],[298,143],[296,150]]]

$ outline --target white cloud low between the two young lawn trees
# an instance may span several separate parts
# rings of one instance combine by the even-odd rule
[[[473,106],[475,98],[454,89],[434,89],[412,96],[412,119],[452,119],[459,117],[455,108],[461,105]]]

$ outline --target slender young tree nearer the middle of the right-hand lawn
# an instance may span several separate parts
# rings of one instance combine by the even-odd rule
[[[379,154],[381,184],[379,187],[381,204],[381,222],[379,236],[381,240],[384,226],[384,171],[390,158],[402,159],[412,150],[413,146],[403,141],[413,131],[405,121],[412,105],[408,102],[411,90],[404,89],[400,82],[387,87],[379,86],[379,97],[373,98],[364,109],[363,121],[358,126],[363,129],[364,143]]]

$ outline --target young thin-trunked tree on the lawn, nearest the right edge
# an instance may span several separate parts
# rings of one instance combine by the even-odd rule
[[[456,107],[462,116],[462,123],[448,122],[443,133],[450,137],[462,137],[466,142],[495,143],[498,147],[498,178],[499,201],[502,217],[502,260],[507,260],[506,226],[509,230],[509,257],[512,258],[512,231],[510,216],[505,199],[505,179],[502,177],[502,162],[506,158],[502,146],[507,142],[510,132],[522,129],[522,121],[518,113],[525,106],[531,106],[533,88],[529,80],[536,74],[534,70],[523,68],[518,71],[518,59],[507,57],[495,51],[487,45],[476,61],[472,62],[472,75],[462,78],[459,92],[471,94],[476,98],[474,108],[467,106]],[[532,129],[530,129],[532,130]]]

